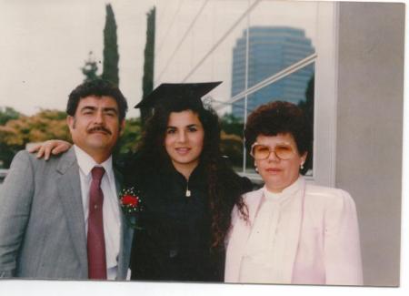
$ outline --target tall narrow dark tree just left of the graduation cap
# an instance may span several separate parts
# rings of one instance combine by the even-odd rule
[[[145,44],[145,64],[143,78],[143,97],[147,96],[154,89],[154,66],[155,66],[155,15],[156,8],[152,8],[147,13],[146,44]],[[151,113],[150,108],[141,108],[142,125]]]

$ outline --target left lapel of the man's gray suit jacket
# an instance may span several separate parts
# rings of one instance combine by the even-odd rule
[[[85,276],[87,276],[85,215],[81,197],[79,168],[76,163],[74,148],[69,149],[61,157],[56,170],[60,174],[60,177],[56,180],[56,187],[63,204],[68,230],[81,264],[81,270],[84,270]]]

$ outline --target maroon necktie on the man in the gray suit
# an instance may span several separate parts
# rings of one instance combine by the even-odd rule
[[[94,167],[91,170],[93,180],[89,189],[88,237],[86,249],[88,253],[88,278],[106,279],[105,237],[103,203],[104,194],[101,189],[101,179],[105,169]]]

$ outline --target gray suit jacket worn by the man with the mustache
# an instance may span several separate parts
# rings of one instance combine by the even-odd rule
[[[74,148],[47,161],[20,151],[0,191],[0,277],[87,279],[84,217]],[[121,223],[118,280],[133,234]]]

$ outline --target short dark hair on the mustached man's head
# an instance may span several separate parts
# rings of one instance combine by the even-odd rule
[[[84,82],[78,87],[75,87],[75,89],[68,96],[66,113],[69,116],[74,117],[76,107],[78,107],[80,99],[88,96],[114,97],[119,109],[119,121],[122,121],[125,118],[126,111],[128,110],[126,98],[121,93],[118,87],[104,79],[93,79]]]

